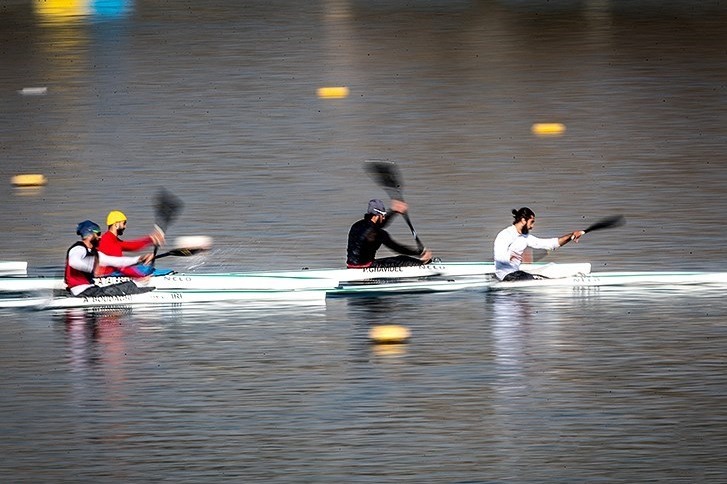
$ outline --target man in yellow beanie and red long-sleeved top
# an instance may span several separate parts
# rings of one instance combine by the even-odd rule
[[[101,236],[101,241],[98,244],[98,250],[106,255],[114,257],[121,257],[124,255],[124,251],[136,252],[146,247],[153,245],[159,246],[164,243],[164,232],[159,227],[155,227],[154,231],[135,240],[121,240],[121,237],[126,230],[127,218],[123,212],[118,210],[112,210],[106,216],[106,226],[108,230]],[[131,267],[123,267],[121,269],[115,269],[106,265],[100,265],[96,269],[96,277],[119,275],[128,277],[144,277],[154,272],[154,266],[152,265],[137,265]]]

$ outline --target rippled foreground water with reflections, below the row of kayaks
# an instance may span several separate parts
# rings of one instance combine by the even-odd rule
[[[7,312],[0,472],[69,476],[62,454],[81,479],[699,480],[727,444],[727,307],[645,294]],[[380,323],[412,330],[403,351],[369,343]]]

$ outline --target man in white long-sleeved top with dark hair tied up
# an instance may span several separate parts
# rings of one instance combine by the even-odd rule
[[[535,213],[528,207],[513,209],[515,218],[512,225],[500,231],[495,238],[495,275],[501,281],[526,281],[536,276],[520,270],[523,252],[533,249],[555,250],[571,240],[578,242],[585,231],[576,230],[560,237],[539,239],[530,233],[535,226]]]

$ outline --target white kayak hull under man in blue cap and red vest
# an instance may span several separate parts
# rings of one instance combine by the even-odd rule
[[[0,299],[0,308],[65,309],[181,306],[201,303],[324,304],[325,290],[301,291],[149,291],[128,296],[30,297]]]

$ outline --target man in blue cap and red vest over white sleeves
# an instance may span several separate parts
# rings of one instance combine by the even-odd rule
[[[81,240],[73,244],[66,254],[65,281],[71,294],[83,297],[125,296],[128,294],[141,294],[154,289],[153,287],[139,287],[133,281],[110,286],[95,285],[93,275],[99,264],[115,268],[133,266],[139,263],[149,264],[154,255],[114,257],[99,252],[101,228],[90,220],[79,223],[76,227],[76,234],[81,237]]]

